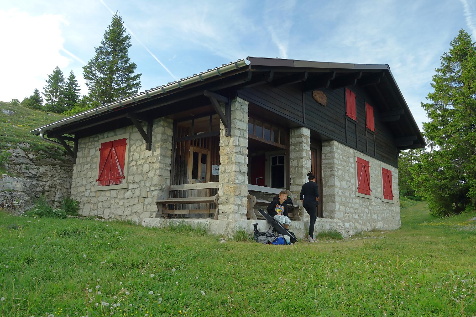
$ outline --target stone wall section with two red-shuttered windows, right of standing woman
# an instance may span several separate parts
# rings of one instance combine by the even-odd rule
[[[356,194],[356,155],[370,163],[370,199]],[[392,171],[394,203],[382,201],[382,167]],[[325,141],[322,143],[322,171],[325,218],[340,220],[356,232],[400,227],[397,168],[337,141]]]

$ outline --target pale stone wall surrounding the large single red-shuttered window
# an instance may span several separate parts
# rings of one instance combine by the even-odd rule
[[[173,121],[160,118],[153,121],[152,151],[135,126],[79,139],[77,163],[74,165],[71,198],[79,200],[79,212],[84,216],[105,219],[141,221],[157,211],[155,200],[170,184]],[[147,130],[144,125],[144,129]],[[97,186],[99,147],[106,138],[128,137],[125,188]],[[124,136],[125,137],[125,136]]]

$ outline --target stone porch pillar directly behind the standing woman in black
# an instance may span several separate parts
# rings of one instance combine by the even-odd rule
[[[299,200],[301,187],[307,182],[307,173],[311,171],[311,131],[306,127],[294,128],[289,131],[289,159],[291,170],[291,188],[294,199]],[[303,220],[309,215],[301,210]]]

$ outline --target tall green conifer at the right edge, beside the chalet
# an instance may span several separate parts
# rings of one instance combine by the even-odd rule
[[[422,106],[432,149],[411,168],[413,186],[428,201],[430,213],[446,216],[476,205],[476,46],[461,29],[441,57]]]

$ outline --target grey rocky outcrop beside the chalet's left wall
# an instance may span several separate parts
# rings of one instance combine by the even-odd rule
[[[30,209],[32,202],[45,195],[47,202],[59,207],[61,200],[70,196],[73,163],[40,158],[28,153],[29,144],[10,149],[5,167],[9,174],[0,178],[0,207],[21,212]],[[44,155],[42,155],[44,156]]]

